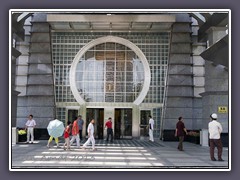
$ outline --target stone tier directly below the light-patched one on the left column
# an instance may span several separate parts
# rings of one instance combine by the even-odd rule
[[[53,85],[52,75],[29,75],[28,84]]]

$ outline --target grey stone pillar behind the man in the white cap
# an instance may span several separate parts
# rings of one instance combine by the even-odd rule
[[[228,132],[228,113],[218,113],[219,106],[228,107],[228,72],[221,65],[205,62],[205,89],[203,98],[203,128],[208,128],[210,114],[217,113],[223,132]]]

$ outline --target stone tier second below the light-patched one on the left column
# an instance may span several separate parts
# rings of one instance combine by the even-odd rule
[[[54,96],[54,89],[53,86],[38,86],[38,85],[34,85],[34,86],[28,86],[27,88],[27,95],[28,96],[49,96],[49,95],[53,95]]]

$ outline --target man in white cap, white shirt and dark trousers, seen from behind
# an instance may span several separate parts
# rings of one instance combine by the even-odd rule
[[[217,114],[213,113],[210,115],[211,121],[208,123],[208,132],[210,140],[210,158],[212,161],[216,161],[214,157],[214,149],[217,147],[218,150],[218,161],[223,161],[222,159],[222,125],[217,121]]]

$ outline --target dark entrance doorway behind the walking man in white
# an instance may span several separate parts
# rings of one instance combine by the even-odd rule
[[[90,123],[91,119],[95,119],[95,135],[97,139],[103,139],[103,122],[104,122],[104,109],[87,109],[86,114],[86,135],[87,135],[87,128],[88,124]]]

